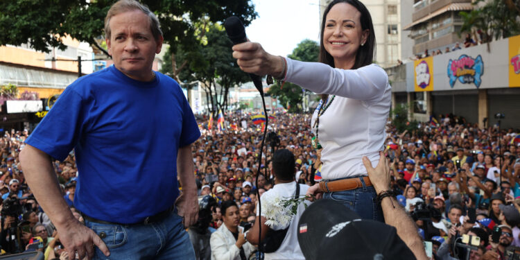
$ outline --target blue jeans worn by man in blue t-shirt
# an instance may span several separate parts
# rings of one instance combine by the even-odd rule
[[[98,236],[104,233],[103,242],[110,250],[110,256],[105,257],[96,247],[94,259],[195,259],[182,217],[175,212],[147,225],[107,225],[85,220]]]

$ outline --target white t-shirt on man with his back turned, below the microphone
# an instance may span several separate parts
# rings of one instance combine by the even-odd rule
[[[309,189],[309,186],[306,184],[299,184],[300,185],[300,198],[302,196],[305,196],[305,193],[307,192],[307,189]],[[285,198],[294,198],[296,192],[296,182],[289,182],[289,183],[280,183],[276,184],[272,189],[266,191],[262,194],[260,197],[260,200],[262,202],[262,205],[265,205],[264,203],[266,201],[272,200],[272,198],[275,198],[276,196],[279,196],[279,198],[285,199]],[[309,200],[305,200],[304,202],[306,205],[310,205],[311,202]],[[305,257],[302,253],[302,249],[300,249],[300,243],[298,243],[298,221],[300,220],[300,217],[302,216],[303,211],[305,210],[304,203],[300,203],[298,206],[298,209],[296,211],[296,215],[294,216],[293,220],[291,220],[291,223],[289,224],[290,227],[287,230],[287,234],[285,236],[284,241],[281,242],[280,248],[276,252],[272,253],[266,253],[266,260],[270,259],[302,259],[304,260]],[[266,212],[266,209],[262,207],[262,213]],[[259,209],[258,209],[258,203],[257,203],[257,216],[259,215]],[[265,214],[261,214],[261,216],[265,216]],[[280,230],[285,229],[287,226],[281,226],[281,225],[275,225],[275,227],[272,227],[272,229]]]

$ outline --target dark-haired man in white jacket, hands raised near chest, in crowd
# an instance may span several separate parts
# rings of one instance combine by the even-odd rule
[[[232,200],[222,202],[220,210],[223,212],[223,225],[211,234],[211,260],[249,259],[254,246],[245,240],[243,227],[240,224],[239,207]]]

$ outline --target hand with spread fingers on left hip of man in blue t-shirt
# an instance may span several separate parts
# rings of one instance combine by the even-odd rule
[[[79,223],[74,219],[73,223],[70,223],[66,227],[59,229],[60,241],[64,246],[69,256],[76,255],[78,252],[78,259],[94,258],[94,245],[96,245],[105,256],[110,255],[110,251],[105,245],[105,242],[99,238],[99,236],[85,225]],[[61,256],[60,256],[61,259]]]

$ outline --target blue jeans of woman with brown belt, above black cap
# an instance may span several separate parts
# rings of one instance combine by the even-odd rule
[[[384,223],[383,209],[376,201],[376,190],[373,186],[366,186],[363,177],[358,178],[361,179],[363,187],[349,191],[325,192],[323,193],[323,198],[340,202],[347,208],[356,211],[363,219],[377,220]]]

